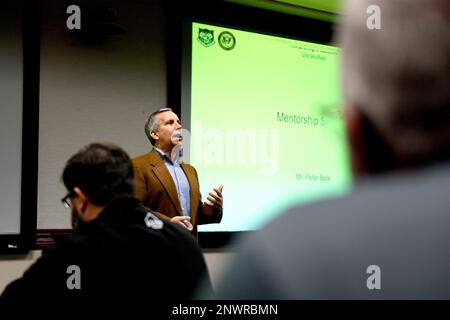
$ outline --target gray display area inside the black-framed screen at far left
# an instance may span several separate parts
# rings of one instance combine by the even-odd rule
[[[22,21],[20,1],[0,3],[0,233],[20,231]]]

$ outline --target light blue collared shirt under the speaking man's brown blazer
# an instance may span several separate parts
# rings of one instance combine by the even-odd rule
[[[153,147],[155,148],[155,147]],[[173,182],[175,183],[175,187],[177,188],[178,200],[180,201],[181,210],[183,210],[184,216],[191,215],[191,198],[190,198],[190,187],[189,181],[187,180],[186,174],[183,169],[180,167],[178,161],[172,161],[164,152],[160,149],[155,148],[155,150],[159,153],[161,158],[164,161],[164,164],[169,170],[170,175],[172,176]]]

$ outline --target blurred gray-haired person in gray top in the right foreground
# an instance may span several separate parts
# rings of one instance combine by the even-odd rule
[[[346,1],[338,29],[355,188],[246,239],[219,299],[450,298],[450,3]]]

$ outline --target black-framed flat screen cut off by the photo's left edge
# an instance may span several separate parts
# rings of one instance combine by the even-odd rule
[[[36,1],[37,2],[37,1]],[[0,2],[0,253],[25,253],[36,232],[39,10]]]

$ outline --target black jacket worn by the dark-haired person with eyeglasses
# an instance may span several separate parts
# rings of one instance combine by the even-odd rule
[[[151,307],[190,299],[204,282],[211,288],[195,239],[126,198],[44,250],[0,300],[3,307],[27,302]]]

